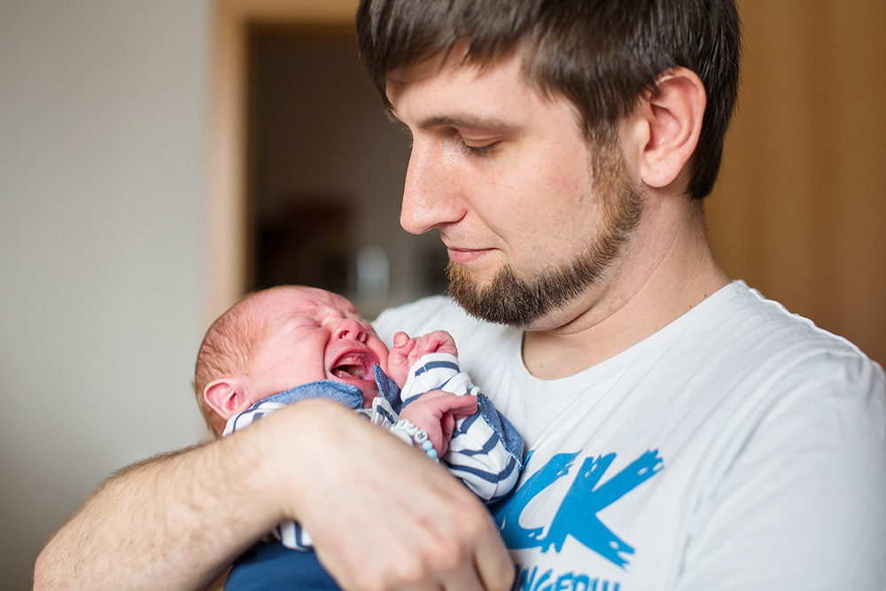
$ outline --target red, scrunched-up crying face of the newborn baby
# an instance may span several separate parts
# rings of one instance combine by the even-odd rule
[[[372,368],[388,349],[347,299],[309,287],[276,290],[261,303],[272,323],[253,364],[257,400],[322,379],[355,385],[368,407],[378,395]],[[257,401],[257,400],[253,400]]]

